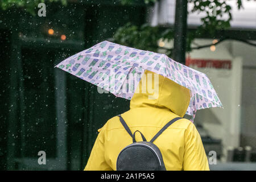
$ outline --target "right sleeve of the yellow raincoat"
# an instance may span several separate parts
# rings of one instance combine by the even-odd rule
[[[183,158],[184,171],[209,171],[208,159],[204,151],[203,142],[195,125],[186,130],[184,136],[185,148]]]

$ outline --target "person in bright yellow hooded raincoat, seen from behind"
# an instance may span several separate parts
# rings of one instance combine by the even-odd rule
[[[156,93],[148,90],[146,93],[142,92],[148,79],[146,82],[140,81],[131,98],[130,110],[121,114],[131,132],[141,131],[147,141],[171,119],[183,117],[190,101],[189,89],[161,75],[156,80],[156,73],[150,71],[146,71],[144,76],[148,77],[148,74],[152,75],[153,89],[157,90],[155,88],[158,86],[158,97],[152,99],[150,96],[156,96]],[[132,139],[118,116],[109,119],[98,131],[84,170],[116,170],[119,152],[131,144]],[[139,134],[135,137],[137,142],[142,141]],[[182,118],[174,122],[156,138],[154,144],[160,149],[167,170],[209,170],[201,137],[195,125],[188,119]]]

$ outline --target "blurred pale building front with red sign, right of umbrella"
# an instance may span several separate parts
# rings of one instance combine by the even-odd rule
[[[222,162],[256,162],[256,3],[242,3],[243,8],[238,10],[237,1],[228,2],[233,17],[229,30],[219,31],[214,38],[201,35],[192,47],[217,43],[225,37],[229,40],[187,53],[186,64],[207,74],[224,105],[224,109],[199,110],[195,118],[205,151],[216,151]],[[188,10],[192,7],[188,3]],[[175,0],[160,0],[149,11],[152,26],[174,26]],[[205,14],[189,13],[188,31],[196,30]],[[173,42],[162,44],[173,48]]]

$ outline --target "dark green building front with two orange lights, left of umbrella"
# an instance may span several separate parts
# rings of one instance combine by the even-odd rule
[[[46,17],[0,11],[2,170],[83,169],[97,130],[129,109],[129,102],[54,66],[127,22],[144,23],[144,6],[73,1],[46,10]],[[38,164],[39,151],[46,152],[45,165]]]

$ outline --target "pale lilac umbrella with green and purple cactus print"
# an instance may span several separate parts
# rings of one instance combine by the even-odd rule
[[[191,90],[191,101],[186,114],[193,118],[199,109],[222,107],[216,91],[204,73],[161,53],[104,41],[68,57],[55,67],[108,90],[117,97],[129,100],[147,69]],[[129,79],[131,77],[134,79]]]

